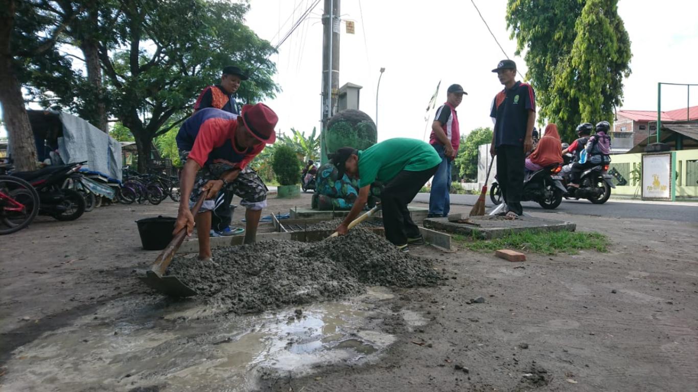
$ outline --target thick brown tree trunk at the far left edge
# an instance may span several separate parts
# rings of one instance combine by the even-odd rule
[[[3,3],[5,3],[3,1]],[[8,130],[12,158],[18,171],[35,170],[36,144],[31,132],[29,115],[24,108],[22,87],[15,74],[10,52],[10,32],[15,22],[15,2],[0,13],[0,104],[3,121]]]

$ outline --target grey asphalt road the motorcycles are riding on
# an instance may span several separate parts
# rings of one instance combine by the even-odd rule
[[[429,193],[419,193],[414,202],[429,202]],[[477,195],[451,195],[451,204],[472,206]],[[611,218],[641,218],[698,222],[698,202],[640,202],[637,200],[610,199],[604,204],[591,204],[588,200],[565,200],[554,210],[543,209],[539,204],[523,202],[523,211],[570,213],[573,215],[606,216]],[[487,207],[493,204],[487,197]]]

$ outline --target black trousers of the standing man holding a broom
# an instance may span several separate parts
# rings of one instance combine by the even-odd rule
[[[521,197],[523,197],[523,168],[526,154],[523,146],[497,147],[497,183],[502,190],[502,197],[507,209],[521,215]]]

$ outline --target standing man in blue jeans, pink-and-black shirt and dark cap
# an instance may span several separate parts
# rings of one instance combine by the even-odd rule
[[[436,111],[429,135],[429,144],[441,157],[438,170],[431,180],[430,218],[447,216],[450,211],[451,167],[461,144],[456,107],[461,104],[463,94],[468,95],[460,84],[451,84],[447,92],[446,102]]]

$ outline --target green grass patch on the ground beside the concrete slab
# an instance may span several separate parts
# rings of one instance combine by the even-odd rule
[[[527,230],[492,240],[482,240],[477,233],[473,233],[471,236],[454,235],[453,239],[464,248],[478,252],[512,249],[546,255],[557,253],[577,255],[579,250],[584,249],[607,252],[609,246],[607,237],[597,232],[532,232]]]

